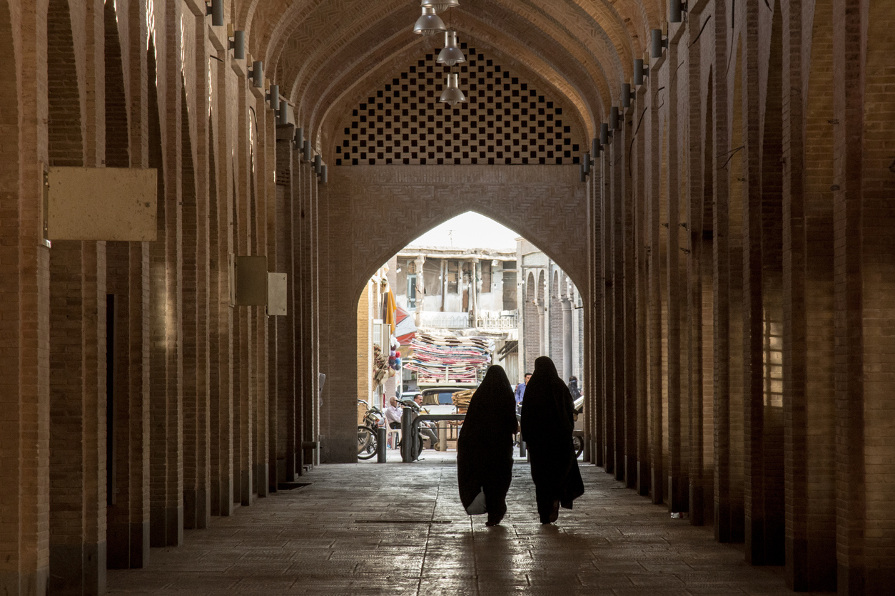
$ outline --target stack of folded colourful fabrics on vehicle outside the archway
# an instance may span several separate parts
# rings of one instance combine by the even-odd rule
[[[416,371],[424,385],[477,383],[490,364],[494,340],[417,333],[405,368]]]

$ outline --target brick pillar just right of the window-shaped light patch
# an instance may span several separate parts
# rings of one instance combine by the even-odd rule
[[[787,584],[836,587],[832,2],[783,6],[783,407]],[[809,32],[810,31],[810,32]],[[803,39],[811,36],[810,64]],[[808,79],[805,81],[805,72]],[[803,86],[807,84],[807,103]],[[813,114],[813,117],[809,114]],[[810,214],[810,216],[807,216]],[[812,482],[809,484],[809,475]],[[809,490],[810,486],[810,490]]]

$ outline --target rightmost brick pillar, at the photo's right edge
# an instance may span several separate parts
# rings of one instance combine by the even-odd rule
[[[895,7],[836,0],[832,22],[837,583],[880,594],[895,583]]]

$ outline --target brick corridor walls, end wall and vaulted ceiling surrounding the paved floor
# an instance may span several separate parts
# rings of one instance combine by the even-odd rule
[[[420,4],[0,0],[0,592],[361,466],[358,297],[467,211],[575,286],[594,491],[887,592],[895,4]]]

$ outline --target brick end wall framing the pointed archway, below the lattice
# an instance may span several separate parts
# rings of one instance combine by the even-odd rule
[[[576,166],[351,166],[321,190],[321,461],[356,457],[357,297],[423,232],[474,211],[529,239],[584,288],[585,189]],[[582,290],[584,291],[584,290]],[[583,297],[587,300],[587,297]]]

